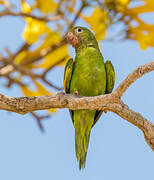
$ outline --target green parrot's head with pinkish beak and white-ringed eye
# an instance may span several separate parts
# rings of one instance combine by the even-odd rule
[[[75,48],[94,46],[98,43],[94,34],[87,28],[76,26],[73,27],[66,35],[67,42]]]

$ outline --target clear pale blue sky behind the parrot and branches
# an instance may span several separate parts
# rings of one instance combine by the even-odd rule
[[[84,26],[83,23],[78,25]],[[14,51],[22,42],[24,22],[19,18],[0,19],[0,51],[8,46]],[[75,55],[70,48],[71,55]],[[104,59],[115,67],[118,84],[139,65],[154,60],[154,51],[142,51],[138,43],[103,42]],[[63,83],[63,68],[54,69],[49,78]],[[123,100],[134,111],[154,123],[154,72],[137,80],[124,94]],[[0,92],[10,96],[21,95],[13,86],[4,88],[0,79]],[[75,157],[74,128],[67,109],[43,121],[42,134],[34,119],[0,111],[0,179],[2,180],[130,180],[152,179],[154,154],[144,141],[142,132],[119,116],[103,114],[91,132],[86,168],[78,170]]]

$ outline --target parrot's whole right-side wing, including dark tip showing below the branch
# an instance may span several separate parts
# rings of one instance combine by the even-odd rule
[[[106,91],[105,91],[105,94],[109,94],[112,92],[112,89],[113,89],[114,83],[115,83],[115,72],[114,72],[114,68],[113,68],[111,61],[106,61],[105,70],[106,70]],[[93,126],[96,124],[96,122],[100,118],[102,112],[103,111],[96,111]]]

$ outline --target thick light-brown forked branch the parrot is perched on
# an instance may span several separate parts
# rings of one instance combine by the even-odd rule
[[[121,100],[122,95],[133,82],[151,71],[154,71],[154,61],[136,68],[122,81],[113,93],[100,96],[83,97],[57,93],[55,95],[14,98],[0,94],[0,109],[19,114],[50,108],[112,111],[141,129],[144,133],[146,142],[154,151],[154,125],[141,114],[131,110]]]

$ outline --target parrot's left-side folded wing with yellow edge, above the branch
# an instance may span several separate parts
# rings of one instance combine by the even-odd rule
[[[73,72],[73,59],[69,59],[66,63],[65,66],[65,71],[64,71],[64,90],[66,93],[70,92],[70,82],[72,78],[72,72]]]

